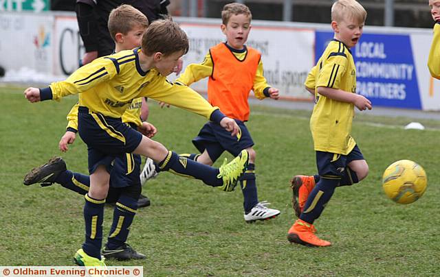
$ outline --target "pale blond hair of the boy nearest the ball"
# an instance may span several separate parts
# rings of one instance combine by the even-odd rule
[[[331,21],[341,22],[344,18],[353,18],[358,23],[364,23],[366,10],[358,1],[338,0],[331,6]]]

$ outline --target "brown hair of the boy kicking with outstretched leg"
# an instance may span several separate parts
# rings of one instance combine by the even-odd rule
[[[147,56],[156,52],[161,52],[165,56],[177,51],[186,54],[188,48],[188,36],[177,23],[170,20],[154,21],[142,36],[142,52]]]

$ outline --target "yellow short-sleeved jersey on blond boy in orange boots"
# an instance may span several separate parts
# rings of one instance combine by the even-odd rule
[[[347,155],[355,140],[351,137],[354,105],[319,95],[319,86],[356,93],[356,68],[351,51],[332,40],[307,77],[306,86],[315,88],[315,106],[310,119],[316,151]],[[315,82],[315,86],[310,84]]]

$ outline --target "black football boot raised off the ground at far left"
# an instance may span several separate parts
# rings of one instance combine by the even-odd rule
[[[66,163],[61,157],[51,158],[44,165],[35,167],[28,174],[26,174],[23,184],[29,186],[30,184],[41,183],[41,186],[50,186],[55,182],[56,177],[63,171],[66,171]]]

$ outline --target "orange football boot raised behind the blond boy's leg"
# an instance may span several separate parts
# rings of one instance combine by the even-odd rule
[[[311,190],[315,187],[314,176],[297,175],[290,181],[292,190],[294,191],[294,197],[292,198],[292,204],[294,206],[296,217],[300,217],[303,212],[307,197],[311,193]]]

